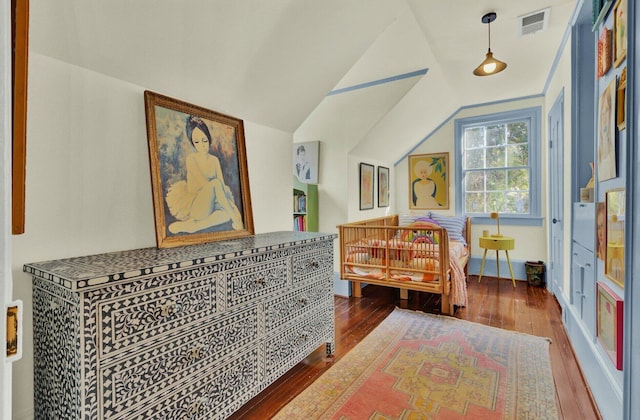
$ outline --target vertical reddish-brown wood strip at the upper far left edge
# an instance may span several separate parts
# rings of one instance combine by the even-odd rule
[[[11,231],[25,230],[25,178],[27,157],[27,80],[29,62],[29,0],[11,0],[11,55],[13,73],[13,153]]]

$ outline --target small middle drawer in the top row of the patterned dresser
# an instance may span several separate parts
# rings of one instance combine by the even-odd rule
[[[225,270],[222,281],[227,308],[266,298],[291,283],[288,259],[271,258],[270,255],[256,257],[261,261],[259,263],[244,264],[240,261],[239,268]]]

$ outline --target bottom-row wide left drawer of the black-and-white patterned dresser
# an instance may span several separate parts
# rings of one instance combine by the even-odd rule
[[[148,404],[137,405],[135,411],[118,414],[118,418],[225,419],[262,390],[259,353],[253,347],[211,366],[191,382],[164,390]]]

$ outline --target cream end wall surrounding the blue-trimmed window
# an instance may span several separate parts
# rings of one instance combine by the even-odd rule
[[[443,210],[442,213],[454,214],[455,213],[455,196],[457,180],[455,179],[456,162],[455,162],[455,120],[459,118],[468,118],[476,115],[491,114],[495,112],[509,111],[512,109],[528,108],[534,106],[542,106],[543,98],[530,98],[519,101],[501,102],[493,105],[478,106],[472,108],[465,108],[456,112],[450,117],[442,126],[433,132],[429,138],[418,145],[411,151],[412,155],[419,155],[424,153],[449,153],[449,173],[451,178],[449,180],[449,210]],[[546,115],[543,108],[543,115]],[[425,136],[428,133],[425,133]],[[542,143],[546,144],[546,119],[542,118]],[[547,179],[546,179],[546,159],[547,151],[543,147],[541,160],[543,162],[542,170],[542,203],[540,206],[542,209],[546,208],[546,194],[547,194]],[[395,166],[395,183],[394,183],[394,197],[396,199],[396,209],[399,213],[409,212],[409,175],[408,171],[408,158],[405,157],[400,160]],[[412,212],[416,212],[415,210]],[[482,249],[478,244],[478,238],[482,233],[482,229],[495,229],[495,225],[479,225],[474,224],[471,229],[471,242],[472,242],[472,255],[481,256]],[[546,230],[543,226],[501,226],[503,233],[507,232],[509,236],[512,236],[516,240],[516,247],[509,254],[512,259],[521,260],[547,260],[547,237]],[[526,246],[525,246],[526,244]]]

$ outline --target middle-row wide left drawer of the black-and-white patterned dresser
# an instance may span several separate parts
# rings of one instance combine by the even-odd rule
[[[107,360],[99,369],[105,418],[115,417],[153,395],[179,387],[217,361],[243,351],[258,338],[258,309],[236,311],[211,324],[145,343],[143,351]]]

